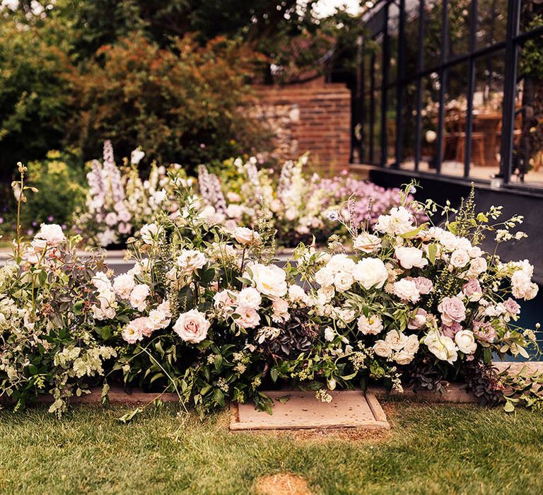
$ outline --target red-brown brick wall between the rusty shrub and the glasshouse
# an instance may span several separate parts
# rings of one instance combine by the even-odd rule
[[[257,117],[274,134],[275,154],[297,158],[311,152],[315,168],[347,168],[351,151],[351,92],[344,84],[260,86]]]

